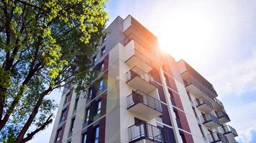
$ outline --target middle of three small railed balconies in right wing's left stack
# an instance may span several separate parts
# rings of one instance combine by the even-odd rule
[[[214,129],[220,125],[219,119],[213,114],[202,115],[201,122],[209,129]]]

